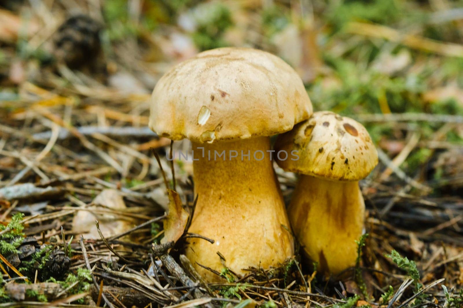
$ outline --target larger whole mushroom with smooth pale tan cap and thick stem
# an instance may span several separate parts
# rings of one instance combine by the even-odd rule
[[[311,114],[298,74],[256,49],[202,52],[156,84],[150,128],[193,144],[198,201],[189,232],[215,242],[194,238],[186,255],[204,278],[220,279],[202,267],[220,272],[219,254],[238,275],[251,266],[277,266],[293,254],[269,136]]]

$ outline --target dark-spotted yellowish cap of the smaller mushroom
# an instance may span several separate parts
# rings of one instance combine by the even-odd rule
[[[298,151],[298,160],[277,163],[285,170],[337,181],[365,178],[378,163],[375,145],[362,124],[333,112],[315,112],[288,133],[281,134],[275,151]],[[294,158],[295,159],[295,158]]]

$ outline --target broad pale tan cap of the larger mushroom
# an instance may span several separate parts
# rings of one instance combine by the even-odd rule
[[[174,66],[151,96],[150,128],[195,142],[271,136],[312,115],[299,75],[252,48],[217,48]]]

